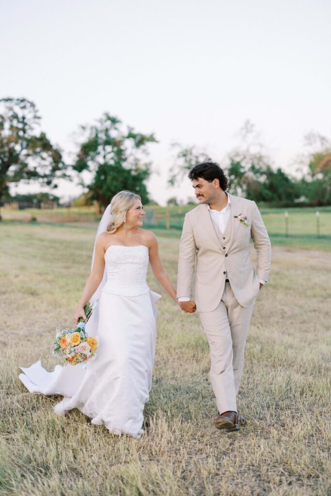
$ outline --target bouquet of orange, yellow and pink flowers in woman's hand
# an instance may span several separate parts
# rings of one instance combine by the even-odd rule
[[[86,322],[90,318],[92,311],[92,306],[88,302],[84,306]],[[95,357],[97,346],[97,339],[88,336],[85,332],[84,319],[80,317],[75,329],[61,330],[60,327],[57,327],[52,354],[56,357],[64,358],[70,365],[77,365]]]

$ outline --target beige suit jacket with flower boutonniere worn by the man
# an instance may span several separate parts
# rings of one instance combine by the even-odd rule
[[[224,291],[226,274],[232,291],[243,307],[248,307],[267,281],[271,244],[259,209],[254,201],[229,195],[232,233],[226,247],[215,232],[208,207],[201,204],[185,216],[178,262],[177,298],[191,295],[198,311],[214,310]],[[249,227],[235,215],[244,214]],[[256,268],[250,256],[250,239],[257,251]]]

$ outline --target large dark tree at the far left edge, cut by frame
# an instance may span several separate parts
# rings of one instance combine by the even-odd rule
[[[55,188],[56,179],[66,177],[60,150],[45,132],[36,133],[39,120],[33,102],[0,99],[0,204],[10,183],[38,181]]]

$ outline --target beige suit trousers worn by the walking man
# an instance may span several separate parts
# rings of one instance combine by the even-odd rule
[[[239,305],[230,283],[215,310],[199,312],[210,348],[210,382],[219,413],[237,412],[236,396],[244,368],[245,344],[253,312],[253,303]]]

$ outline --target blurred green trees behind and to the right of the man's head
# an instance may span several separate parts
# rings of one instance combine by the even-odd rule
[[[229,192],[269,207],[331,205],[331,141],[311,132],[304,137],[303,152],[293,160],[293,173],[272,166],[258,142],[254,125],[247,121],[240,130],[240,144],[220,165],[229,178]],[[195,146],[177,149],[170,184],[178,185],[197,163],[210,160]],[[175,204],[176,198],[169,199]]]

